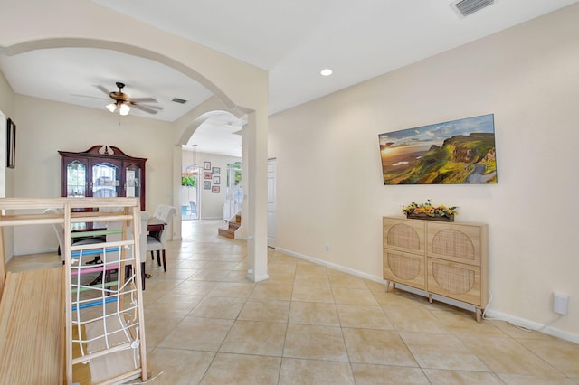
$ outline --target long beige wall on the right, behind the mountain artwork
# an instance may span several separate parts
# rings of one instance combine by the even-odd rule
[[[272,116],[279,249],[378,279],[383,215],[457,205],[489,224],[489,315],[538,327],[558,290],[569,314],[546,332],[579,342],[577,20],[573,5]],[[383,185],[378,134],[489,113],[498,184]]]

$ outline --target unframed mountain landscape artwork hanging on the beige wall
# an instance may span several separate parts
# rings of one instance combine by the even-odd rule
[[[497,183],[494,114],[378,136],[384,185]]]

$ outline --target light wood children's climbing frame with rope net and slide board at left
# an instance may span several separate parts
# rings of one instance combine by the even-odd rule
[[[46,209],[59,212],[43,213]],[[72,384],[73,365],[90,362],[94,383],[147,380],[138,199],[5,198],[0,199],[0,210],[12,212],[0,216],[0,231],[5,226],[60,224],[65,239],[62,268],[6,275],[0,237],[0,379]],[[100,231],[108,237],[104,243],[70,246],[73,224],[95,222],[117,223],[120,230]],[[114,235],[119,239],[112,239]],[[96,253],[104,262],[100,266],[82,263]],[[117,281],[105,282],[109,270],[117,270]],[[81,277],[99,271],[103,273],[99,286],[82,282]]]

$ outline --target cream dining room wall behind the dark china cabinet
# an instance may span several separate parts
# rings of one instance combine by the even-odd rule
[[[91,146],[119,147],[125,154],[147,158],[146,209],[159,203],[172,204],[173,143],[170,123],[134,117],[119,117],[106,109],[15,96],[17,124],[14,196],[61,196],[59,150],[86,151]],[[56,249],[52,229],[14,229],[16,255]]]

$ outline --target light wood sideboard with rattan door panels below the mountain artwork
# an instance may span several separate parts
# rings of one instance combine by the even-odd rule
[[[473,305],[488,303],[488,226],[384,217],[384,280]]]

